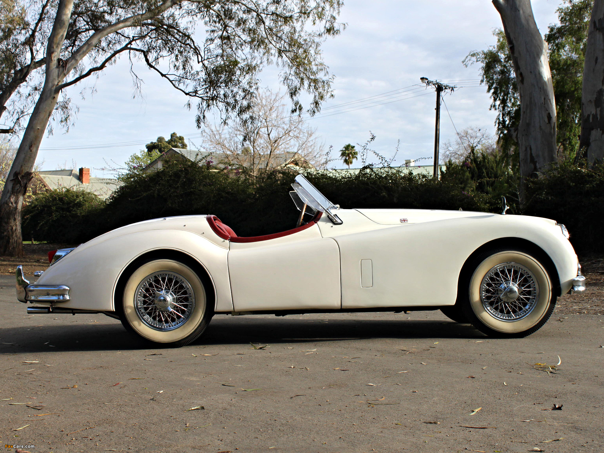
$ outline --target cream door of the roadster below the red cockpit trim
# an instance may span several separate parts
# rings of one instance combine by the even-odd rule
[[[231,243],[228,265],[237,312],[341,307],[339,249],[319,227],[290,236]]]

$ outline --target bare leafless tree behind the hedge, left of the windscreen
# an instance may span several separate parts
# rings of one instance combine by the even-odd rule
[[[300,115],[291,115],[284,96],[259,92],[252,120],[236,121],[230,127],[208,126],[204,148],[220,163],[250,170],[257,175],[291,162],[304,167],[325,160],[324,144]]]

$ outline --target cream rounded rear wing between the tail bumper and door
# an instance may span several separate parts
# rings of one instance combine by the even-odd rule
[[[54,263],[37,281],[69,286],[71,299],[57,303],[58,307],[113,311],[115,286],[126,266],[146,252],[171,249],[190,255],[210,274],[216,289],[216,311],[233,310],[226,265],[228,249],[205,239],[205,234],[167,229],[136,231],[85,246],[82,252],[76,253],[76,249]]]

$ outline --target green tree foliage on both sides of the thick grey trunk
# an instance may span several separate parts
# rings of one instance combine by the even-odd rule
[[[557,143],[559,157],[574,158],[579,146],[581,89],[587,27],[593,0],[564,0],[557,8],[559,25],[548,27],[545,40],[549,47],[551,77],[556,98]],[[518,86],[506,36],[501,29],[493,32],[496,44],[487,50],[472,51],[464,65],[479,63],[481,83],[492,100],[490,109],[497,111],[496,132],[503,150],[515,147],[515,134],[520,121]]]

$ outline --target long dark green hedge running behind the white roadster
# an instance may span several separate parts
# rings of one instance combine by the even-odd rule
[[[506,196],[508,213],[566,223],[577,250],[604,250],[604,239],[597,234],[604,206],[604,167],[560,167],[531,181],[528,202],[521,210],[514,173],[506,162],[493,161],[499,158],[479,155],[461,165],[449,162],[440,181],[404,169],[371,166],[356,174],[324,171],[307,178],[342,208],[500,212],[501,196]],[[239,236],[275,233],[295,225],[298,213],[288,194],[294,177],[288,171],[254,177],[190,161],[166,162],[158,172],[133,176],[106,203],[71,189],[37,196],[24,210],[24,237],[78,243],[128,223],[188,214],[216,214]]]

